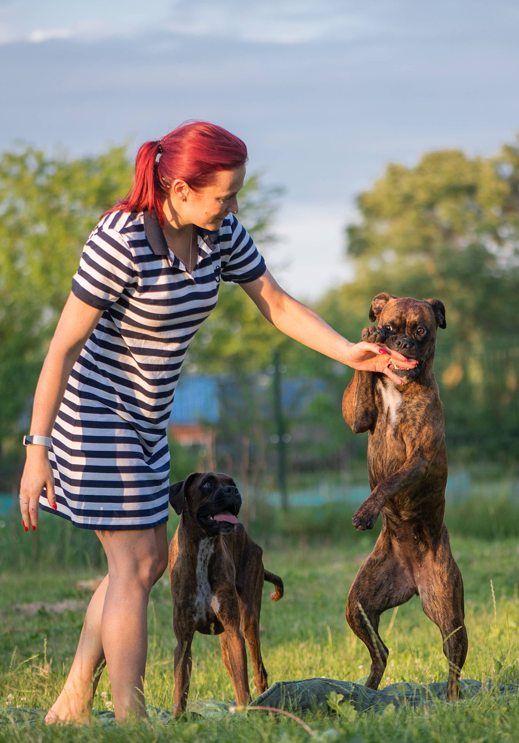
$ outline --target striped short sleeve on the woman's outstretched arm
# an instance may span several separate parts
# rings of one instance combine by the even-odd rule
[[[253,239],[234,215],[219,236],[222,255],[222,279],[237,284],[259,279],[267,267]],[[223,227],[223,225],[222,225]]]

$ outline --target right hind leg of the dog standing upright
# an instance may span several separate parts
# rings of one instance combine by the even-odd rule
[[[460,673],[468,650],[465,629],[463,581],[451,553],[447,530],[436,554],[422,561],[419,580],[422,608],[442,633],[443,652],[448,660],[447,698],[460,697]]]

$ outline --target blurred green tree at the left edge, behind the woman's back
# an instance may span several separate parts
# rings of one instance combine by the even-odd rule
[[[19,456],[39,369],[88,233],[128,190],[126,148],[96,158],[0,155],[0,445]],[[25,414],[25,415],[24,415]],[[28,424],[28,421],[27,421]],[[13,438],[14,437],[14,438]]]

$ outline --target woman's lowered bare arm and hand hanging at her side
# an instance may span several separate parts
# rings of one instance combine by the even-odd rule
[[[51,435],[72,367],[102,314],[102,310],[87,305],[74,294],[68,296],[36,386],[31,435]],[[56,496],[47,447],[31,444],[26,450],[20,484],[20,510],[25,531],[28,531],[31,526],[36,529],[38,525],[38,502],[42,490],[46,488],[48,502],[53,507]]]

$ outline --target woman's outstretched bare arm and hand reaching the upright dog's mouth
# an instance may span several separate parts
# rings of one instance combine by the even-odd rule
[[[381,371],[393,382],[402,384],[402,380],[388,368],[390,357],[406,369],[416,366],[416,360],[407,360],[402,354],[389,351],[384,345],[365,341],[351,343],[346,340],[316,312],[287,294],[268,270],[259,279],[241,286],[262,315],[282,333],[353,369]]]

